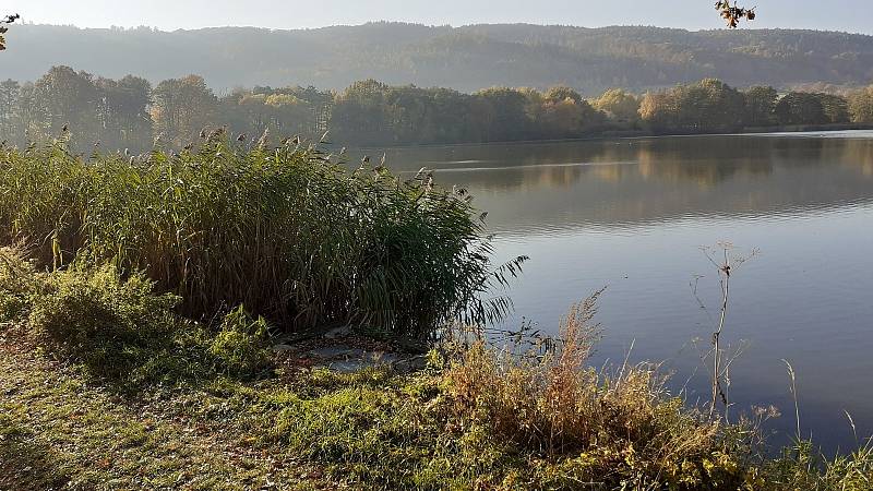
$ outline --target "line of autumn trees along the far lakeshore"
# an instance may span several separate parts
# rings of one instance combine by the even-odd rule
[[[873,123],[873,85],[847,95],[754,86],[715,79],[593,98],[566,86],[547,91],[392,86],[374,80],[345,91],[238,88],[216,94],[189,75],[152,86],[145,79],[94,76],[55,67],[33,83],[0,82],[0,140],[14,145],[68,137],[85,151],[181,148],[203,129],[225,127],[240,141],[301,135],[351,145],[483,143],[600,134],[709,133],[774,127]]]

